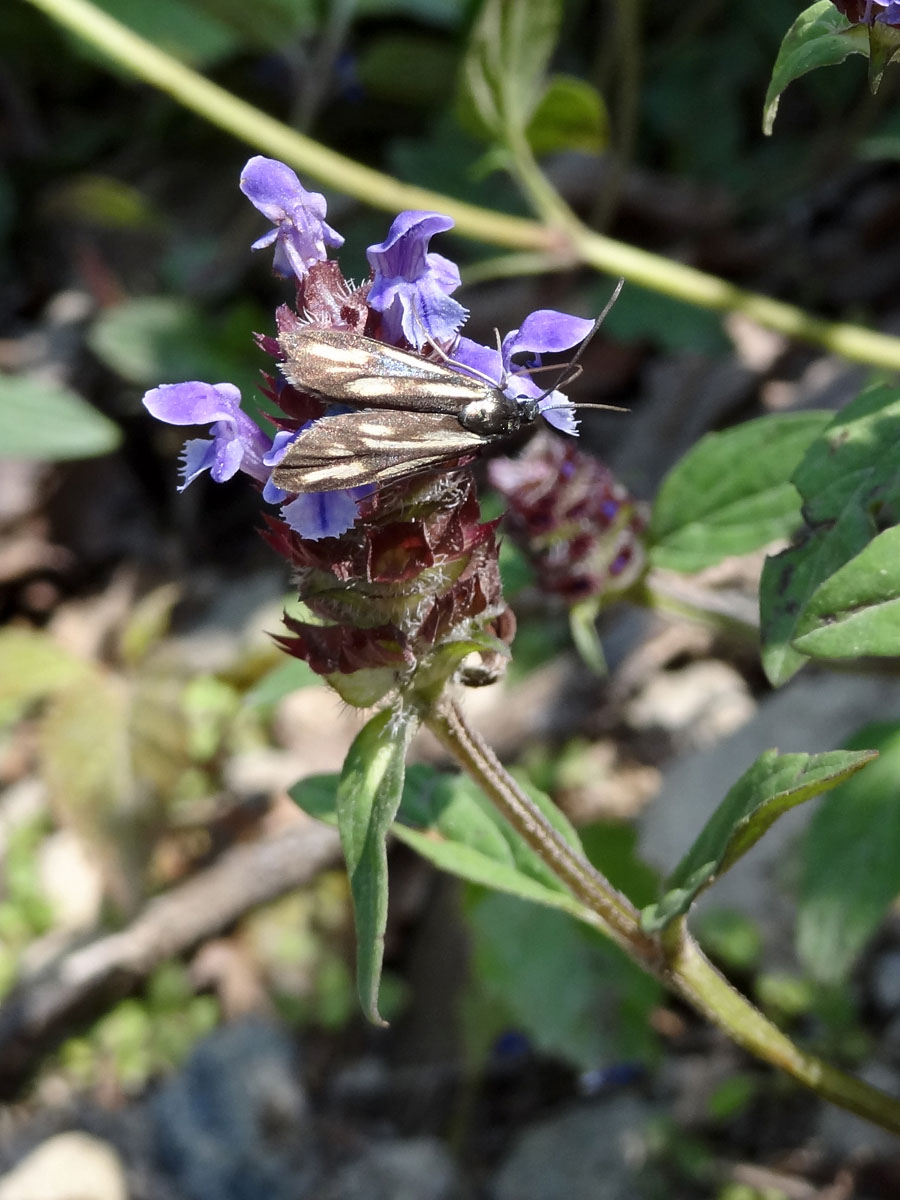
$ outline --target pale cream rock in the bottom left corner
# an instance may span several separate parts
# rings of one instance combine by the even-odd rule
[[[112,1146],[86,1133],[61,1133],[0,1178],[0,1200],[128,1200],[128,1189]]]

